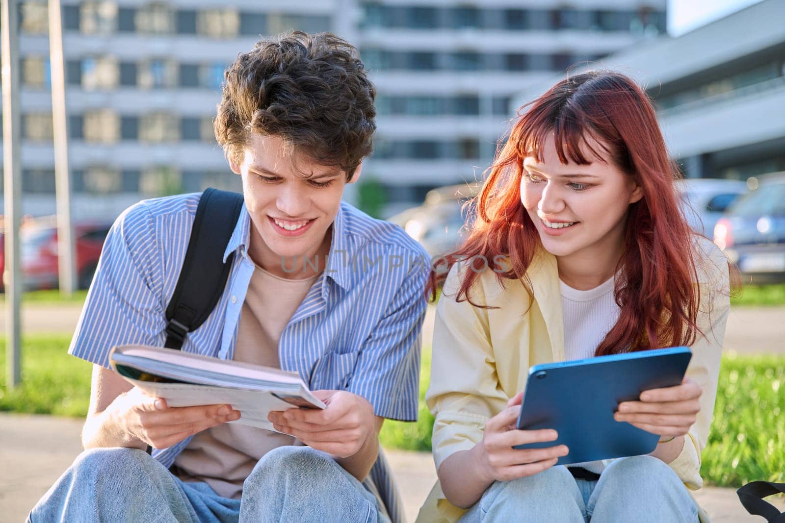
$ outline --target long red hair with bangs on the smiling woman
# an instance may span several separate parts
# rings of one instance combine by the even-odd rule
[[[476,219],[469,236],[444,258],[447,267],[475,256],[488,261],[509,256],[504,267],[508,270],[497,274],[500,283],[520,280],[531,295],[526,272],[542,243],[520,201],[520,179],[524,158],[542,162],[543,144],[553,133],[562,163],[590,164],[582,153],[585,147],[583,151],[598,158],[611,158],[644,193],[626,216],[614,289],[619,321],[595,354],[691,345],[699,332],[696,253],[674,190],[674,179],[681,175],[666,151],[648,96],[623,74],[592,71],[557,83],[518,114],[473,202]],[[590,143],[599,144],[601,151]],[[439,268],[444,277],[444,267]],[[486,307],[470,296],[479,275],[473,270],[464,273],[456,300]]]

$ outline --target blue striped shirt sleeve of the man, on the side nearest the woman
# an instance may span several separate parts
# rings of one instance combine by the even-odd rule
[[[422,322],[428,302],[425,285],[429,263],[412,263],[384,315],[357,356],[348,390],[366,398],[374,413],[416,421],[419,401]]]

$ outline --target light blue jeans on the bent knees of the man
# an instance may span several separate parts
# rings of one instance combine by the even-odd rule
[[[243,498],[180,481],[139,449],[82,452],[30,513],[53,521],[389,521],[375,496],[334,459],[309,447],[279,447],[243,483]]]

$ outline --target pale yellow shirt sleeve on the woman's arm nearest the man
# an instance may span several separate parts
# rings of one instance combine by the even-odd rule
[[[436,470],[444,459],[482,441],[485,422],[507,405],[507,394],[496,377],[487,309],[455,301],[460,285],[452,267],[433,327],[431,382],[425,402],[436,417],[433,459]],[[486,303],[482,285],[472,290],[475,303]]]

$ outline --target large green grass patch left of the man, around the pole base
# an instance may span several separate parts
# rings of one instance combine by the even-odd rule
[[[68,355],[71,336],[26,336],[22,383],[6,387],[5,338],[0,340],[0,411],[86,416],[92,365]]]

